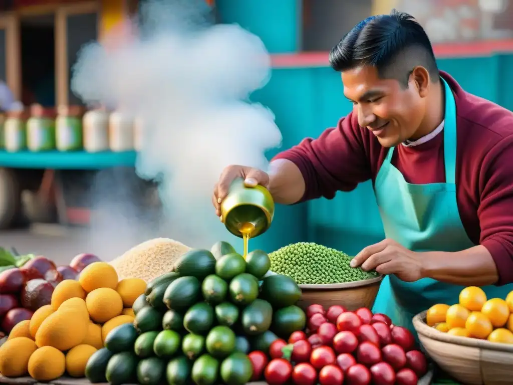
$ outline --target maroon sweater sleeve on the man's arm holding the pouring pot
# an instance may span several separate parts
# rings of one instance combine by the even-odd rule
[[[319,197],[332,199],[337,191],[351,191],[371,179],[366,147],[364,133],[350,113],[319,138],[304,139],[273,160],[290,160],[301,170],[306,186],[301,201]]]

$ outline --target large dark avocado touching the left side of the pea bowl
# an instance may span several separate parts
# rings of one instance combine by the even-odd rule
[[[270,275],[262,280],[259,298],[268,301],[274,309],[280,309],[295,304],[301,298],[301,289],[290,277]]]

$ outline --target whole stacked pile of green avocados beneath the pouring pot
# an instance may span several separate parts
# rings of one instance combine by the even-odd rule
[[[226,242],[195,249],[155,278],[132,306],[133,324],[112,330],[86,365],[93,383],[243,385],[253,374],[247,354],[268,353],[277,338],[305,327],[297,283],[264,278],[267,254],[244,259]]]

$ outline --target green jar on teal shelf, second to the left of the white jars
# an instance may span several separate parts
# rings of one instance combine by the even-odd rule
[[[33,105],[27,121],[27,147],[30,151],[55,149],[54,111],[40,105]]]

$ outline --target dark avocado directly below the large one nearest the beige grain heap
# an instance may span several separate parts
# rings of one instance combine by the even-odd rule
[[[201,298],[201,284],[196,277],[180,277],[167,286],[164,303],[170,310],[185,311]]]

